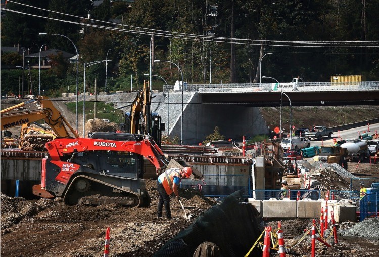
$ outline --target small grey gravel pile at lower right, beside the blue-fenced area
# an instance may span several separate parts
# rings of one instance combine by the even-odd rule
[[[379,218],[370,218],[357,223],[351,229],[342,232],[343,236],[379,238]]]

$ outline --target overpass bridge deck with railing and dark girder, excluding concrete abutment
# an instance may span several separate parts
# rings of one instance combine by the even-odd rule
[[[202,103],[240,103],[248,106],[280,106],[280,93],[292,106],[379,105],[379,82],[311,82],[268,84],[189,85]],[[279,96],[278,96],[279,94]],[[289,105],[282,96],[282,104]]]

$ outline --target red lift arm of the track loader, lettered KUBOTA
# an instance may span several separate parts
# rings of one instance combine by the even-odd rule
[[[141,141],[60,138],[46,143],[45,147],[53,161],[60,161],[65,155],[73,155],[79,152],[107,150],[131,152],[144,156],[154,164],[157,174],[161,173],[168,164],[162,150],[149,138]]]

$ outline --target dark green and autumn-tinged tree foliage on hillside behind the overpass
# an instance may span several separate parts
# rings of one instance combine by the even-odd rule
[[[189,83],[208,83],[211,76],[212,83],[259,82],[260,75],[284,82],[295,76],[301,76],[305,82],[328,81],[335,74],[361,74],[367,80],[377,80],[379,76],[379,58],[373,47],[310,48],[306,43],[302,47],[261,45],[262,40],[378,41],[379,0],[221,0],[217,1],[217,16],[209,15],[211,5],[216,5],[212,0],[136,0],[130,6],[124,1],[105,0],[97,7],[90,0],[25,0],[22,3],[25,5],[7,4],[7,8],[21,13],[7,12],[2,18],[2,47],[20,43],[36,52],[33,43],[47,44],[49,48],[75,54],[69,40],[38,33],[67,36],[78,47],[80,74],[83,74],[84,62],[105,60],[109,53],[111,62],[107,75],[109,87],[114,90],[129,88],[131,76],[135,87],[142,83],[143,74],[150,68],[150,53],[153,59],[177,64]],[[88,14],[92,20],[87,19]],[[46,16],[49,19],[43,18]],[[121,25],[100,22],[110,18],[120,19]],[[117,30],[93,25],[113,26]],[[152,30],[147,32],[147,29]],[[211,37],[206,36],[211,30],[217,37],[250,41],[249,44],[247,41],[230,44],[224,40],[208,40]],[[161,36],[162,31],[170,31],[172,35]],[[183,39],[180,36],[183,33],[204,36],[206,40]],[[112,51],[108,52],[109,49]],[[266,53],[272,55],[260,63]],[[20,58],[3,54],[2,64],[20,64]],[[163,76],[169,84],[181,79],[174,65],[163,62],[151,65],[153,73]],[[262,74],[259,74],[260,68]],[[75,64],[71,64],[60,72],[43,71],[41,83],[49,89],[54,81],[72,91],[75,69]],[[102,87],[104,70],[104,64],[91,67],[88,81],[96,78]],[[82,75],[79,80],[82,82]]]

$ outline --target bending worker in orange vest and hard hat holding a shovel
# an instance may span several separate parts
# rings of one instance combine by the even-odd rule
[[[170,209],[170,195],[174,193],[176,198],[180,200],[178,185],[182,178],[189,178],[192,174],[192,168],[184,167],[180,168],[170,168],[164,173],[159,175],[157,180],[157,189],[159,194],[159,200],[157,205],[157,216],[162,217],[163,205],[165,206],[166,219],[171,220],[171,209]]]

